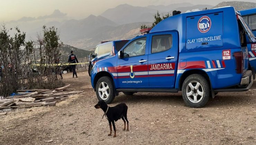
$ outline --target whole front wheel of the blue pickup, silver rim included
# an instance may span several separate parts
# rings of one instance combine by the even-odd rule
[[[115,99],[115,88],[110,77],[101,77],[96,84],[98,100],[104,100],[107,104]]]

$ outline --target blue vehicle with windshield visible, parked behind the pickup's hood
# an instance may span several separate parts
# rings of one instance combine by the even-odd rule
[[[116,40],[116,41],[102,41],[97,45],[91,54],[91,61],[89,62],[88,73],[91,76],[92,66],[95,62],[115,56],[117,52],[128,42],[129,40]]]

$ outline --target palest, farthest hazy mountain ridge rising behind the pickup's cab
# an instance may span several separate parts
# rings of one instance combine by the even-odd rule
[[[121,4],[115,8],[108,9],[101,14],[101,16],[114,21],[118,24],[127,24],[134,22],[153,22],[153,15],[159,11],[160,14],[166,14],[167,12],[172,14],[173,10],[179,10],[186,12],[192,9],[212,8],[210,5],[195,5],[191,3],[178,3],[170,4],[168,6],[148,6],[148,7],[134,7],[129,4]]]

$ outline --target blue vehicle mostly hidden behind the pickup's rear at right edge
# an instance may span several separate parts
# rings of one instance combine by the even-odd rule
[[[245,22],[252,29],[254,36],[256,36],[256,8],[239,11]],[[256,69],[256,43],[250,41],[247,37],[247,48],[249,52],[249,69],[252,70],[253,79],[255,79]]]

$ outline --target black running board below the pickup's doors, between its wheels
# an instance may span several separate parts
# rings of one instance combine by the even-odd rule
[[[117,89],[118,92],[158,92],[158,93],[178,93],[178,89]]]

